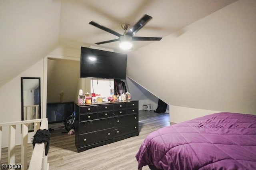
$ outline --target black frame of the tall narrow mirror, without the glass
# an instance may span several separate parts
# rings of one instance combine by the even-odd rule
[[[38,80],[38,97],[39,97],[39,108],[38,108],[38,119],[41,119],[41,81],[40,77],[21,77],[21,120],[24,121],[24,80],[25,79],[37,79]]]

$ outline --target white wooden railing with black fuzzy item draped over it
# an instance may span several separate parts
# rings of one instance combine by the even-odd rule
[[[21,169],[26,170],[28,167],[27,148],[28,148],[28,125],[34,123],[34,133],[40,129],[48,129],[48,120],[34,119],[27,121],[17,121],[9,123],[0,123],[0,163],[2,154],[2,127],[9,127],[9,141],[8,141],[8,165],[15,165],[15,138],[16,126],[21,125]],[[40,126],[41,123],[41,126]],[[47,156],[45,156],[45,144],[35,144],[33,154],[30,160],[29,169],[46,170],[48,169]],[[41,164],[40,164],[41,162]],[[41,165],[41,166],[40,166]],[[30,168],[31,167],[31,168]],[[1,168],[1,167],[0,167]]]

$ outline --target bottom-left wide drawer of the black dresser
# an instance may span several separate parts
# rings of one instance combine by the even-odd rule
[[[86,133],[86,134],[79,134],[79,147],[90,145],[97,143],[99,141],[109,140],[112,139],[114,136],[113,128],[108,128],[105,130],[99,130],[96,132]]]

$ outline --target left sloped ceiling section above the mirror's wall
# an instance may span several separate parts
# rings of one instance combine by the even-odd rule
[[[60,0],[0,1],[0,87],[59,45]]]

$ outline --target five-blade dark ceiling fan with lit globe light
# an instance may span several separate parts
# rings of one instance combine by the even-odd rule
[[[114,34],[115,36],[119,37],[118,39],[114,39],[114,40],[98,42],[96,43],[97,45],[120,41],[119,45],[121,48],[130,49],[132,47],[132,41],[160,41],[162,39],[160,37],[135,37],[134,36],[135,33],[138,32],[142,27],[144,27],[148,23],[148,21],[151,19],[152,19],[151,16],[145,14],[142,18],[140,18],[140,20],[134,26],[132,26],[132,28],[130,28],[130,24],[122,24],[121,27],[124,30],[124,34],[119,34],[118,32],[115,32],[114,30],[111,30],[110,28],[106,28],[93,21],[89,22],[89,24],[96,26],[106,32],[109,32],[110,34]]]

